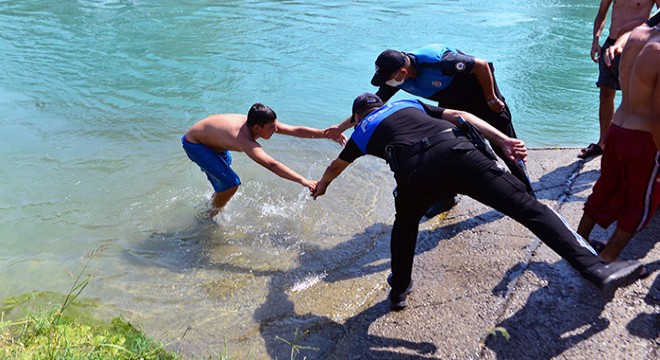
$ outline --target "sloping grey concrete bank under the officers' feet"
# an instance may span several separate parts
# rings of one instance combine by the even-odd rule
[[[535,149],[528,161],[538,198],[573,227],[600,168],[578,151]],[[246,339],[249,358],[660,358],[657,214],[622,254],[651,275],[607,301],[522,225],[462,196],[446,218],[420,224],[415,290],[399,312],[386,300],[391,222],[374,226],[381,235],[350,264],[304,289],[271,292],[277,310],[257,312],[282,316]]]

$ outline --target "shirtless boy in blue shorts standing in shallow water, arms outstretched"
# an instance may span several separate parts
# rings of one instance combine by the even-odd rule
[[[213,210],[215,216],[236,193],[241,180],[232,170],[229,151],[244,152],[259,165],[278,176],[297,182],[314,190],[316,181],[308,180],[286,165],[270,157],[257,139],[270,139],[274,133],[300,138],[324,138],[323,130],[306,126],[291,126],[277,121],[275,112],[264,104],[254,104],[247,116],[216,114],[200,120],[183,136],[181,143],[188,158],[206,173],[213,185]],[[346,137],[336,140],[340,144]]]

